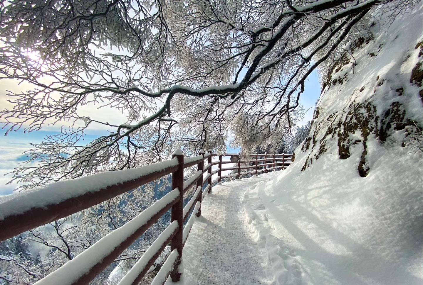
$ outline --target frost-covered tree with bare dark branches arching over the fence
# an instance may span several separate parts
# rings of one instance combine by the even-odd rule
[[[30,86],[8,94],[5,130],[71,125],[34,145],[36,165],[16,178],[26,189],[156,162],[179,146],[224,152],[228,133],[249,149],[279,141],[307,76],[385,2],[3,1],[0,75]],[[78,115],[93,104],[126,122]],[[110,131],[87,144],[93,125]]]

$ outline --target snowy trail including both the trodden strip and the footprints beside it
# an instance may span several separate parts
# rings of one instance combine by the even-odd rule
[[[265,223],[265,208],[247,193],[275,175],[224,183],[206,195],[184,247],[181,284],[301,284],[295,253],[255,228]]]

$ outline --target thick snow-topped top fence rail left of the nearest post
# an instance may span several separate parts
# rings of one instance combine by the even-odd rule
[[[133,177],[127,176],[129,169],[108,171],[8,195],[7,199],[0,201],[0,241],[100,204],[170,174],[177,168],[178,164],[173,159],[130,169]],[[122,181],[122,176],[127,176],[128,179]],[[101,182],[113,179],[117,182],[96,187]],[[91,185],[92,188],[87,192],[78,193],[75,191],[78,186],[72,183],[75,181],[78,185]]]

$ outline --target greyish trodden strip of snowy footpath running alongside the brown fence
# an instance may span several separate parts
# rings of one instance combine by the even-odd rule
[[[261,177],[224,183],[203,201],[184,247],[183,284],[267,284],[263,257],[245,227],[242,199]]]

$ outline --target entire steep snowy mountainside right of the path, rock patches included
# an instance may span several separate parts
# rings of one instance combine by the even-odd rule
[[[420,5],[351,43],[295,162],[247,194],[251,230],[269,258],[294,251],[302,284],[423,283],[422,27]]]

